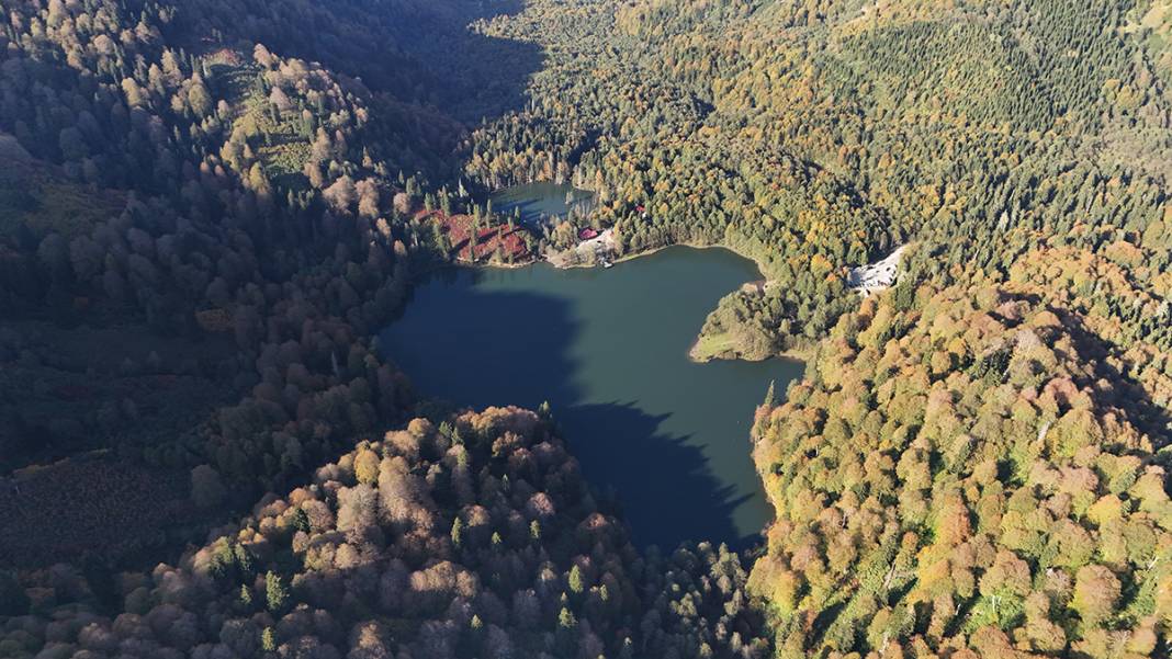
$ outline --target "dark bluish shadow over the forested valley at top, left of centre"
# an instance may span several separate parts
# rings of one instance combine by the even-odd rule
[[[537,43],[481,34],[482,19],[524,11],[519,0],[323,2],[238,15],[212,5],[184,35],[193,50],[264,43],[281,56],[320,62],[375,92],[442,110],[464,123],[525,104],[544,64]]]

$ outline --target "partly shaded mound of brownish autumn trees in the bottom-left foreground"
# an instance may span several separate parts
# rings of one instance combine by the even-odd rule
[[[745,577],[707,543],[640,556],[547,421],[489,409],[359,442],[178,565],[0,581],[0,652],[764,658]]]

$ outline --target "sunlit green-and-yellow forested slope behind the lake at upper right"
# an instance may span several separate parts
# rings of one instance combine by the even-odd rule
[[[1081,222],[1163,270],[1156,5],[534,1],[485,29],[545,44],[538,102],[473,133],[469,171],[597,190],[622,249],[752,256],[778,286],[709,323],[747,355],[812,345],[854,303],[846,268],[911,240],[936,272],[1004,276]]]

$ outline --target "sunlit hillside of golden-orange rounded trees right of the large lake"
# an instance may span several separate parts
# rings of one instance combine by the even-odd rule
[[[758,411],[782,655],[1166,648],[1172,379],[1054,289],[870,298]]]

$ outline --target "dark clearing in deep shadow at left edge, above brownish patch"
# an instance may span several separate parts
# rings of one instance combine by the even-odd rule
[[[0,475],[191,432],[232,389],[229,335],[159,336],[130,317],[0,323]]]

